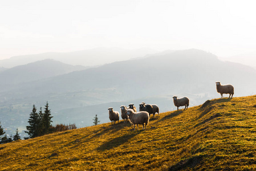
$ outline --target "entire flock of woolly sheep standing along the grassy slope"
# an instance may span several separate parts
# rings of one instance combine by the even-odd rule
[[[234,87],[231,84],[221,85],[220,82],[216,82],[216,89],[217,92],[221,94],[221,98],[223,98],[223,94],[229,94],[229,97],[231,98],[234,95]],[[189,98],[188,97],[182,97],[178,98],[177,96],[173,96],[173,103],[177,107],[185,106],[185,109],[188,109],[189,106]],[[134,104],[129,104],[129,108],[127,108],[125,105],[121,105],[120,107],[121,111],[121,117],[124,120],[124,123],[127,122],[127,120],[130,121],[131,124],[133,124],[133,128],[135,130],[135,125],[137,125],[137,129],[139,129],[139,125],[145,124],[145,129],[149,123],[149,117],[151,114],[155,116],[156,113],[159,114],[159,107],[156,104],[145,104],[145,102],[142,102],[140,104],[139,112],[137,112],[137,109]],[[111,120],[112,125],[118,121],[119,123],[119,112],[113,111],[113,108],[108,108],[109,113],[109,119]],[[160,115],[160,114],[159,114]]]

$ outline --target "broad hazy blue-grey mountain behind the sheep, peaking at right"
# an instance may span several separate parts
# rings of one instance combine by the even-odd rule
[[[101,123],[107,122],[108,107],[120,111],[120,105],[134,103],[139,107],[145,101],[159,105],[160,112],[170,111],[174,108],[173,95],[188,96],[190,107],[201,104],[220,97],[217,81],[233,84],[234,96],[252,95],[255,74],[251,67],[221,61],[209,52],[165,51],[36,81],[0,84],[0,119],[5,127],[23,130],[32,105],[39,109],[48,101],[53,124],[76,123],[84,127],[92,125],[96,114]]]

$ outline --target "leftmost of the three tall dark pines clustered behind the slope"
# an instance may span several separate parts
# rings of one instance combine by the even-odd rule
[[[30,124],[29,126],[26,126],[27,131],[25,131],[31,138],[39,136],[38,133],[38,125],[39,125],[39,116],[38,113],[36,113],[36,107],[33,105],[32,112],[30,113],[30,119],[28,121]]]

